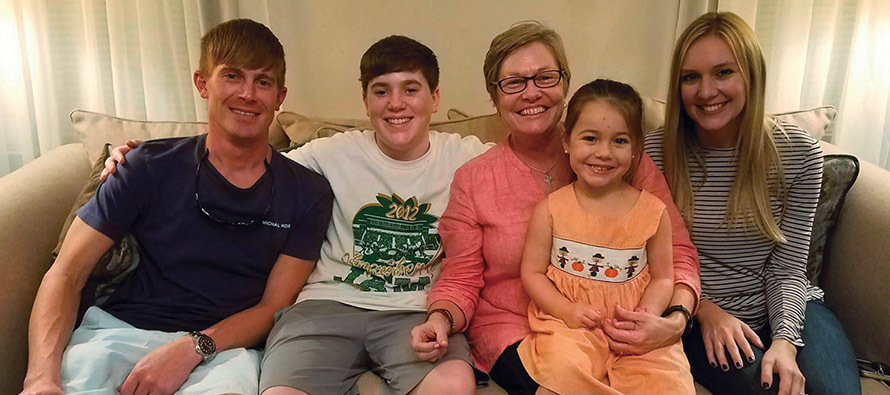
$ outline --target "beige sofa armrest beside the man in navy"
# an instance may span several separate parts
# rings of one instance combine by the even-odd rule
[[[28,319],[51,252],[90,165],[81,144],[56,148],[0,178],[0,393],[22,389]]]

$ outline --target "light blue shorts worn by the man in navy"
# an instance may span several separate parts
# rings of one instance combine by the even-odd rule
[[[116,388],[142,357],[186,335],[137,329],[98,307],[90,307],[62,355],[62,390],[66,394],[117,394]],[[256,350],[223,351],[198,365],[176,394],[255,395],[260,358]]]

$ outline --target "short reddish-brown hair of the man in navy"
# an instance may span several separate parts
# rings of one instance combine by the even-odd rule
[[[278,88],[284,87],[284,48],[262,23],[233,19],[210,29],[201,38],[200,71],[209,78],[220,64],[251,70],[271,68]]]

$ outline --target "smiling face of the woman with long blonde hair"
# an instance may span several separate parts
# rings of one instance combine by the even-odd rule
[[[747,88],[726,41],[709,35],[689,46],[680,67],[680,97],[702,144],[735,146]]]

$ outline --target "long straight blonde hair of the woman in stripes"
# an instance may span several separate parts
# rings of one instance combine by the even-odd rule
[[[777,125],[764,114],[766,63],[754,31],[742,18],[730,12],[710,12],[700,16],[683,31],[674,47],[663,146],[665,173],[674,202],[687,226],[692,226],[692,193],[700,185],[692,185],[689,169],[697,166],[704,172],[702,183],[707,179],[707,169],[695,134],[695,122],[680,97],[680,73],[689,47],[706,36],[723,40],[732,50],[747,93],[736,143],[735,181],[724,220],[731,226],[754,227],[770,239],[784,242],[785,237],[771,208],[771,198],[785,199],[785,178],[772,134]]]

